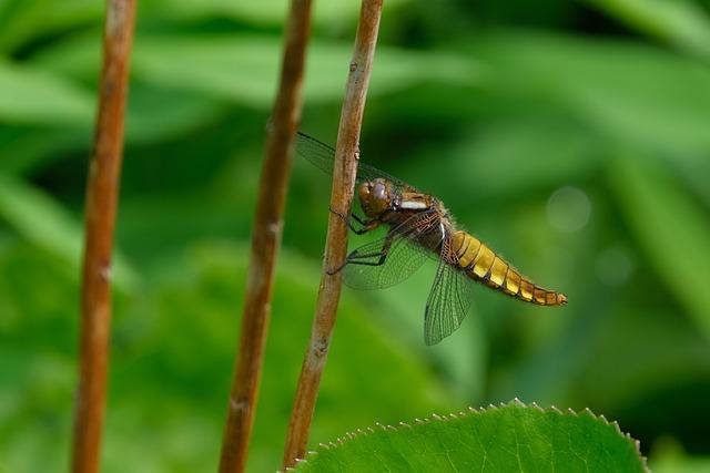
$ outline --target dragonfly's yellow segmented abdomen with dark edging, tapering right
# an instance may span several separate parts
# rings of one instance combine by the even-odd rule
[[[458,266],[476,281],[526,302],[540,306],[567,304],[567,297],[564,294],[537,286],[521,276],[486,244],[466,232],[456,232],[452,235],[452,250],[455,258],[449,263]]]

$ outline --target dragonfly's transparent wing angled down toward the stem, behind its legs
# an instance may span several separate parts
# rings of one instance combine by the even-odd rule
[[[436,213],[415,214],[389,229],[384,238],[365,244],[348,255],[345,285],[364,290],[395,286],[419,269],[427,257],[436,258],[428,248],[438,241],[440,227]]]

